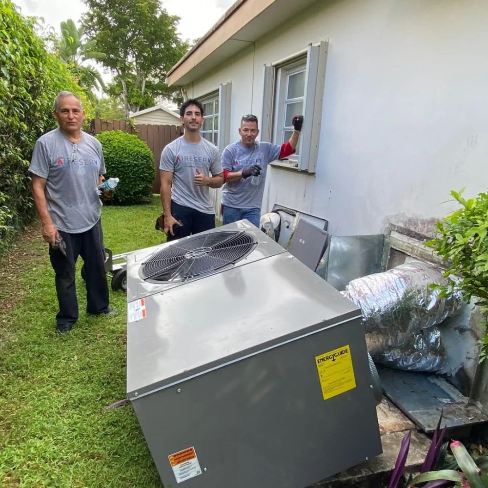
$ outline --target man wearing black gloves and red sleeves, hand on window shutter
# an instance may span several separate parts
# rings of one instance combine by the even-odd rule
[[[302,122],[302,116],[293,117],[293,134],[289,141],[278,145],[257,142],[258,118],[255,115],[244,115],[239,128],[241,140],[229,144],[222,153],[224,225],[247,219],[259,227],[267,165],[295,152]]]

